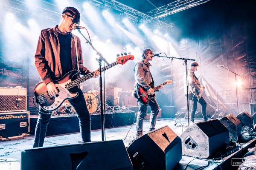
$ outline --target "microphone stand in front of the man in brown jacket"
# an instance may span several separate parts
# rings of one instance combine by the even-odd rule
[[[78,32],[84,37],[84,35],[81,33],[80,29],[77,29]],[[99,55],[99,59],[96,59],[99,62],[99,90],[100,90],[100,114],[101,114],[101,130],[102,130],[102,141],[105,140],[104,138],[104,119],[103,119],[103,95],[102,95],[102,60],[109,65],[107,60],[103,57],[103,55],[96,50],[96,48],[93,47],[92,43],[90,43],[89,40],[87,40],[86,37],[84,37],[86,40],[86,43],[89,44],[94,51],[96,51],[96,54]]]

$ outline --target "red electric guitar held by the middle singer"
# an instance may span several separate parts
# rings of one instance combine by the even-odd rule
[[[151,88],[153,88],[154,91],[157,91],[161,88],[161,85],[167,85],[167,84],[171,84],[172,80],[166,80],[166,82],[154,87],[153,82],[151,82],[149,85]],[[148,94],[147,91],[145,90],[145,88],[141,87],[140,85],[137,86],[137,93],[139,95],[138,99],[140,99],[140,101],[144,104],[147,105],[148,104],[148,100],[150,98],[154,98],[156,95],[155,94]]]

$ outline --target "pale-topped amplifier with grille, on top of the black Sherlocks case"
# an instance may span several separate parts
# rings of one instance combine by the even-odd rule
[[[0,112],[26,111],[26,88],[0,88]]]

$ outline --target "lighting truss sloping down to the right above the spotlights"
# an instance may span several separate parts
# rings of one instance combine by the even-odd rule
[[[163,21],[158,20],[157,18],[144,14],[143,12],[137,11],[136,9],[126,6],[115,0],[91,0],[91,3],[99,7],[115,9],[120,13],[125,14],[131,20],[135,20],[137,22],[154,23],[158,27],[172,28],[172,25],[170,24],[167,24]]]

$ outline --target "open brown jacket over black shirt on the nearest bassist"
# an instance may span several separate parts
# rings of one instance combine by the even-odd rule
[[[46,85],[63,76],[60,62],[60,45],[58,42],[58,33],[56,31],[57,27],[58,25],[54,28],[47,28],[41,31],[35,52],[35,67]],[[77,49],[78,59],[76,57],[75,41],[72,37],[71,58],[73,69],[78,69],[78,60],[80,74],[88,74],[91,71],[83,65],[83,55],[79,37],[77,37]]]

